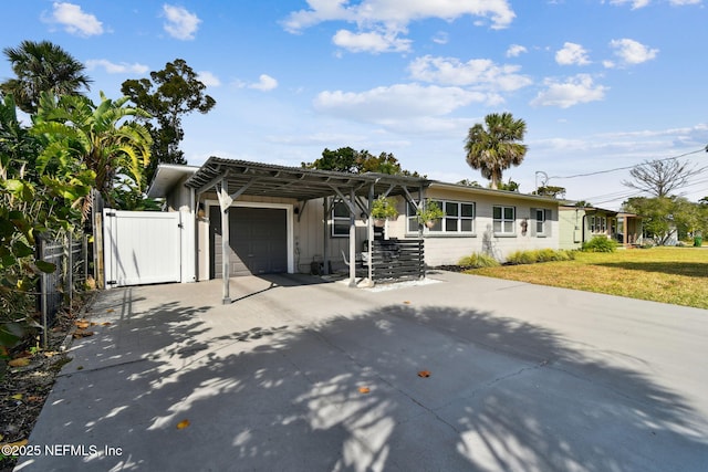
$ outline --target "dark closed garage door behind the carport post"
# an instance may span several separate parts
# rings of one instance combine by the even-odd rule
[[[288,272],[288,211],[284,208],[229,209],[229,275]],[[210,279],[221,277],[221,212],[209,207]]]

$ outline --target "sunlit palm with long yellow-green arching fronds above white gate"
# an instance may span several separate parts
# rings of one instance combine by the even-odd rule
[[[149,115],[124,107],[127,101],[112,101],[102,92],[96,106],[85,96],[64,95],[55,101],[44,92],[32,127],[33,134],[45,139],[37,158],[38,171],[72,166],[88,169],[95,174],[94,188],[108,203],[114,200],[114,186],[126,179],[131,188],[142,192],[153,139],[145,126],[124,118]]]

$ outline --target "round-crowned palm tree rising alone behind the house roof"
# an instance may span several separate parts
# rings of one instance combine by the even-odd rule
[[[491,180],[497,189],[501,174],[511,166],[518,166],[527,154],[527,146],[519,143],[527,133],[523,119],[513,119],[511,113],[492,113],[485,117],[487,128],[476,124],[469,128],[465,149],[467,164],[481,170],[482,177]]]

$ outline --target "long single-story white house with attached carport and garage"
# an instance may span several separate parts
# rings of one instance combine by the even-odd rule
[[[148,190],[149,197],[165,198],[167,211],[192,214],[194,223],[184,228],[189,235],[183,258],[194,261],[192,280],[199,281],[227,272],[232,276],[311,272],[315,265],[341,269],[345,259],[358,259],[373,237],[367,202],[381,193],[394,197],[399,212],[386,223],[385,238],[423,238],[429,266],[456,264],[472,252],[503,261],[517,250],[559,248],[558,200],[417,177],[212,157],[199,168],[160,165]],[[426,198],[446,213],[431,229],[415,220],[415,206]],[[227,263],[225,250],[230,252]]]

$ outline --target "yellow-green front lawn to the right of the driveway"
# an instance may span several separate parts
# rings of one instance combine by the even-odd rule
[[[473,269],[467,273],[708,310],[708,249],[577,252],[574,261]]]

